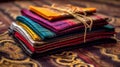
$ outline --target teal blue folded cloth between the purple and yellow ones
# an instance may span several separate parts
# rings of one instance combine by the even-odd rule
[[[31,28],[39,37],[41,37],[42,40],[56,36],[55,33],[42,27],[38,23],[30,20],[29,18],[27,18],[25,16],[18,16],[16,18],[16,20],[20,21],[21,23],[23,23],[23,24],[27,25],[29,28]]]

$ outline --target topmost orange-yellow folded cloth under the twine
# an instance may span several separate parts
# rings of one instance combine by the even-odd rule
[[[78,8],[78,7],[76,8],[77,8],[77,11],[80,13],[96,12],[96,8]],[[61,18],[67,15],[64,12],[53,10],[47,7],[30,6],[29,9],[47,20],[54,20],[54,19],[58,19],[58,18]],[[70,10],[74,10],[74,9],[70,8]]]

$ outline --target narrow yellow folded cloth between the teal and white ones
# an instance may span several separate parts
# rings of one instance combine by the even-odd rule
[[[36,33],[34,33],[34,31],[32,31],[28,26],[26,26],[25,24],[23,24],[21,22],[17,22],[17,24],[20,25],[21,27],[23,27],[34,41],[41,40],[41,38]]]

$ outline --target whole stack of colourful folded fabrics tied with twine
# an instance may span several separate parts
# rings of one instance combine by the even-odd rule
[[[30,6],[21,10],[9,32],[28,53],[39,54],[86,43],[112,42],[114,27],[96,8]]]

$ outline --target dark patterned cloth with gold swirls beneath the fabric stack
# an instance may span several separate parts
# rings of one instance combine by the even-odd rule
[[[99,13],[113,18],[110,22],[116,27],[120,38],[120,1],[105,0],[41,0],[10,1],[0,3],[0,67],[120,67],[120,42],[99,44],[58,54],[31,58],[27,56],[17,43],[8,36],[10,24],[20,15],[22,8],[29,5],[72,4],[80,7],[95,7]],[[94,66],[93,66],[94,65]]]

